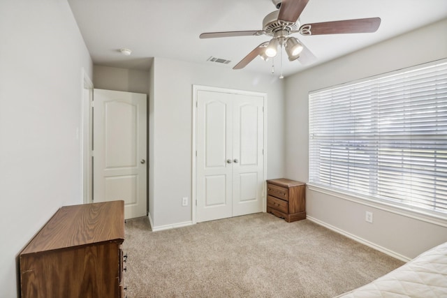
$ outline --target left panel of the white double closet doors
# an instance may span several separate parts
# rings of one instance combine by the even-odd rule
[[[233,105],[228,94],[199,91],[197,222],[231,217]]]

